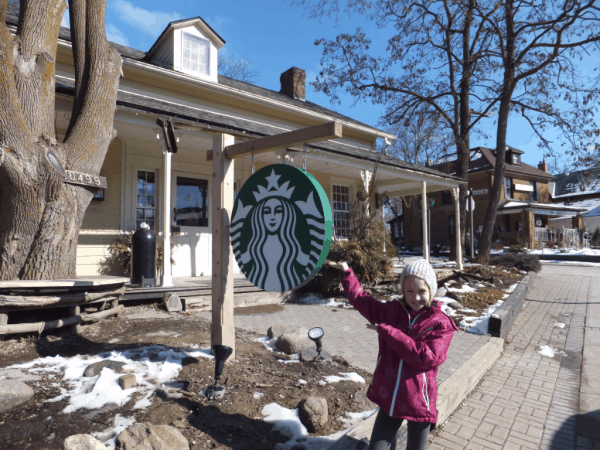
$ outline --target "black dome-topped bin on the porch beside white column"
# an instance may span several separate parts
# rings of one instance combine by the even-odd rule
[[[156,286],[156,237],[145,223],[131,239],[131,284]]]

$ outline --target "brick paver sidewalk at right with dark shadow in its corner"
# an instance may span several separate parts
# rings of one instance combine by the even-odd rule
[[[586,311],[600,275],[569,273],[538,274],[502,357],[432,436],[429,450],[600,450],[600,441],[576,428]],[[541,346],[555,356],[542,356]]]

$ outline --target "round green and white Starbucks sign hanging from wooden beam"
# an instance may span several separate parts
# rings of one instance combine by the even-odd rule
[[[231,245],[246,278],[265,291],[302,286],[321,270],[333,235],[325,190],[293,166],[263,167],[240,189]]]

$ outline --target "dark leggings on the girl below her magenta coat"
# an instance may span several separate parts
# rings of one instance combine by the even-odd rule
[[[404,419],[395,419],[388,416],[381,409],[377,413],[373,433],[371,433],[371,442],[367,450],[400,450],[396,448],[398,439],[398,430]],[[427,448],[427,438],[429,437],[429,422],[406,421],[408,440],[406,450],[425,450]]]

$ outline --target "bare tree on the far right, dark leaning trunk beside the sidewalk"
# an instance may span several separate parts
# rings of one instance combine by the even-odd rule
[[[490,202],[479,241],[481,262],[489,260],[492,235],[504,185],[508,118],[524,117],[549,155],[553,143],[544,134],[552,126],[571,145],[567,154],[584,157],[582,144],[597,133],[594,114],[600,91],[597,80],[586,79],[577,61],[584,53],[597,55],[600,17],[594,0],[524,2],[506,0],[491,14],[480,4],[476,15],[490,26],[494,53],[490,77],[482,96],[498,105],[496,166]],[[567,107],[561,107],[560,102]]]

